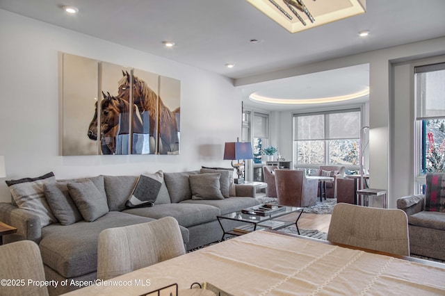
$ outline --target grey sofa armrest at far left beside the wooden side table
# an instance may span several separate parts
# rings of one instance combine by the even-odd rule
[[[3,236],[3,242],[14,242],[17,240],[40,241],[42,227],[37,215],[22,210],[10,203],[0,203],[0,220],[10,226],[17,227],[17,233]]]

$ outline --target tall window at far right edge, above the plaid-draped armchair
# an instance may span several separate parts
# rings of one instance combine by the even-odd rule
[[[414,67],[414,93],[419,182],[428,172],[445,172],[445,63]],[[421,183],[416,193],[423,193]]]

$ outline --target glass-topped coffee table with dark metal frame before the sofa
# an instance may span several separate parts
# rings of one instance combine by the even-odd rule
[[[249,233],[251,231],[262,230],[262,229],[281,229],[283,227],[287,227],[291,224],[295,224],[297,227],[298,234],[300,234],[300,229],[298,229],[298,220],[301,217],[301,214],[304,211],[304,208],[300,208],[298,206],[280,206],[282,207],[282,211],[277,211],[275,213],[271,213],[270,215],[250,215],[247,213],[243,213],[243,211],[236,211],[232,213],[228,213],[225,215],[218,215],[218,222],[220,223],[221,229],[223,229],[223,238],[226,235],[231,236],[242,236],[245,233]],[[293,221],[284,221],[279,218],[284,215],[289,215],[291,213],[298,213],[297,219],[295,222]],[[238,222],[244,222],[240,226],[237,227],[229,227],[227,229],[224,226],[223,220],[233,220]]]

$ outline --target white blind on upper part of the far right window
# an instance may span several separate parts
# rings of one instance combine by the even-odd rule
[[[414,67],[416,118],[445,117],[445,63]]]

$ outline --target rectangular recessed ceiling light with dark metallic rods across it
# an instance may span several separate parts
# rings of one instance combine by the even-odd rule
[[[245,0],[291,33],[365,13],[365,0]]]

